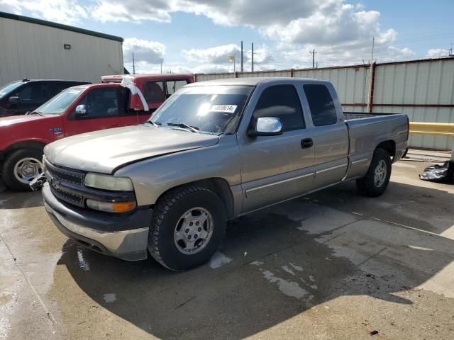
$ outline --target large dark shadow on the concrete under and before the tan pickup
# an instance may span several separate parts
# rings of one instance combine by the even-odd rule
[[[353,190],[350,185],[332,188],[234,220],[221,254],[216,255],[223,259],[223,266],[211,261],[192,271],[173,273],[153,260],[121,261],[71,241],[65,243],[59,264],[67,266],[77,285],[99,305],[161,339],[244,338],[345,295],[370,295],[411,305],[399,292],[424,283],[453,261],[454,253],[443,249],[454,249],[454,241],[441,237],[434,241],[423,232],[361,217],[346,222],[348,227],[339,234],[338,228],[314,232],[309,222],[324,227],[323,221],[338,218],[326,209],[350,214],[361,208],[365,213],[389,215],[389,219],[404,218],[399,210],[389,208],[399,207],[404,197],[418,209],[421,195],[451,201],[452,195],[397,183],[391,183],[382,199],[365,199]],[[420,227],[429,224],[422,221]],[[377,226],[384,228],[382,239],[373,234]],[[336,237],[349,234],[350,227],[352,235],[358,234],[355,230],[364,232],[360,242],[330,246]],[[386,235],[393,230],[390,239]],[[415,233],[421,235],[415,238]],[[409,248],[406,239],[417,247]],[[368,254],[374,246],[382,250]],[[358,253],[365,260],[340,256],[339,249]],[[406,260],[397,261],[402,254]],[[379,269],[371,273],[367,261],[375,261],[371,266]],[[430,270],[423,264],[416,270],[412,261],[428,261]],[[65,308],[69,307],[60,306]]]

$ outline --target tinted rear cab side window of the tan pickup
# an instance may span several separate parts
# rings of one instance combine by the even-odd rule
[[[336,124],[338,116],[328,88],[323,84],[305,84],[303,88],[311,110],[312,123],[315,126]]]

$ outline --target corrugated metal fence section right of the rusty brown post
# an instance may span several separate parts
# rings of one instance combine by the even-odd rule
[[[377,65],[374,104],[454,104],[454,59]],[[454,123],[454,108],[374,106],[374,112],[405,113],[412,122]],[[446,136],[410,135],[411,147],[451,149]]]

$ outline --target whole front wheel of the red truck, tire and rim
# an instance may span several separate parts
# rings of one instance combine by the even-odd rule
[[[1,173],[6,186],[16,191],[31,191],[30,182],[43,173],[43,151],[18,149],[9,154]]]

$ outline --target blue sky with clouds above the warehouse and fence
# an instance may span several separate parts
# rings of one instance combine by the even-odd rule
[[[0,11],[125,38],[139,72],[226,72],[240,40],[245,70],[250,43],[255,69],[319,67],[448,55],[454,43],[454,1],[343,0],[0,0]]]

